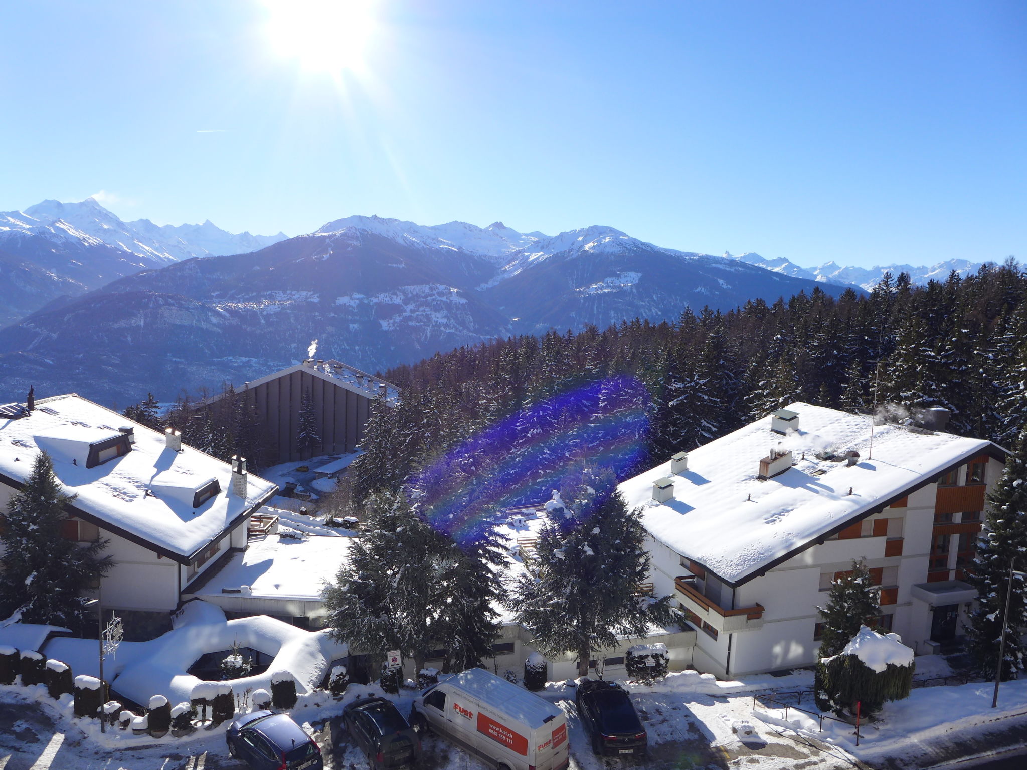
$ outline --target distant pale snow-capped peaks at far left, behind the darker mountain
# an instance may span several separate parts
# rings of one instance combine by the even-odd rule
[[[22,291],[0,281],[0,325],[61,296],[99,288],[140,270],[191,257],[253,252],[286,237],[233,234],[210,221],[178,227],[157,227],[149,220],[126,223],[91,197],[0,211],[0,252],[5,254],[0,269],[14,271],[33,286]]]

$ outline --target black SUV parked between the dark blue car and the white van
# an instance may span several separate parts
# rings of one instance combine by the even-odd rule
[[[373,696],[347,703],[342,723],[373,770],[412,767],[421,757],[421,741],[391,700]]]

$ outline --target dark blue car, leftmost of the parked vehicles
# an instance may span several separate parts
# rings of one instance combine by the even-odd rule
[[[235,719],[225,734],[228,753],[254,770],[324,770],[314,739],[288,715],[254,711]]]

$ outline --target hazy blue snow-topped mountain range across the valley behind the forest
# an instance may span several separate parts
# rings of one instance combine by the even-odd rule
[[[64,295],[0,329],[0,399],[33,384],[108,403],[166,399],[281,369],[315,339],[325,358],[384,371],[501,336],[850,287],[837,271],[794,274],[803,268],[787,260],[682,252],[599,225],[549,236],[357,216],[286,238],[124,223],[87,200],[45,201],[0,227],[0,249],[17,246],[0,251],[0,271]],[[237,253],[214,255],[225,248]]]

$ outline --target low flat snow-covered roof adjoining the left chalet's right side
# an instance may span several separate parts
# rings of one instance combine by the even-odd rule
[[[346,562],[352,538],[308,537],[305,540],[271,535],[252,541],[225,566],[187,593],[198,596],[234,593],[259,599],[319,602],[325,584],[335,579]],[[242,586],[246,586],[242,588]]]

